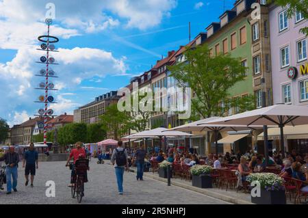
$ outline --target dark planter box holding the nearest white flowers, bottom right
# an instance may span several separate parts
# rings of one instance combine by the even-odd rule
[[[261,189],[260,197],[251,196],[251,202],[254,204],[286,204],[285,191],[266,191]]]

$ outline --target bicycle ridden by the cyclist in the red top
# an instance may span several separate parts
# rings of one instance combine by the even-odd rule
[[[74,178],[74,185],[71,187],[72,197],[77,195],[77,202],[81,203],[82,197],[84,197],[84,181],[86,180],[86,171],[89,169],[88,159],[79,159],[72,165],[72,169],[75,167],[76,177]]]

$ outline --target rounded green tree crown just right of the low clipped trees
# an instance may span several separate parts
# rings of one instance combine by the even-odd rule
[[[116,140],[127,133],[131,126],[130,115],[127,112],[118,111],[116,104],[107,107],[100,119],[103,128],[107,133],[113,133]]]

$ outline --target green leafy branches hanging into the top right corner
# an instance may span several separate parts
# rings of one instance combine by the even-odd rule
[[[287,8],[287,17],[291,18],[300,12],[304,19],[308,19],[308,0],[275,0],[277,5]],[[308,27],[300,29],[300,32],[308,36]]]

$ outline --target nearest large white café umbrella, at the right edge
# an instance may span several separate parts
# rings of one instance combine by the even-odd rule
[[[267,126],[279,126],[281,132],[281,152],[285,157],[285,148],[283,142],[283,126],[296,126],[308,124],[308,107],[294,105],[272,105],[253,111],[238,113],[226,118],[213,120],[209,124],[228,124],[228,125],[263,125],[264,140],[267,145]],[[268,156],[266,146],[266,156]]]

